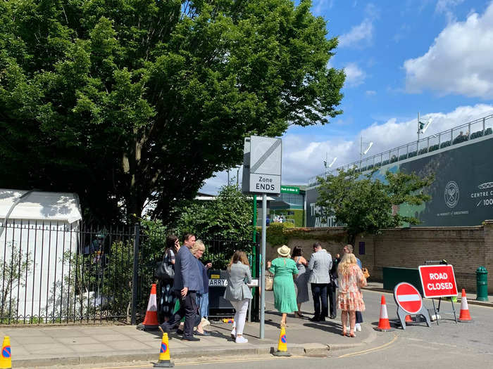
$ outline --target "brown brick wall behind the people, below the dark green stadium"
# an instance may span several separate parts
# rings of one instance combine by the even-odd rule
[[[298,230],[298,232],[301,231]],[[295,229],[294,232],[297,232]],[[304,228],[304,237],[289,239],[288,246],[301,246],[309,259],[313,242],[322,243],[332,257],[345,245],[344,228]],[[365,254],[358,243],[365,242]],[[277,247],[267,247],[269,260],[277,257]],[[458,290],[476,291],[476,268],[488,271],[488,292],[493,294],[493,220],[482,226],[416,227],[383,230],[380,235],[356,238],[354,253],[370,272],[370,280],[382,281],[382,267],[417,268],[426,260],[446,259],[454,266]]]

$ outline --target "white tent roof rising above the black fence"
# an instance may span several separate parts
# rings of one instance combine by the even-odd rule
[[[20,199],[23,195],[25,197]],[[15,205],[19,199],[20,201]],[[69,224],[82,219],[79,197],[76,193],[0,188],[0,219],[5,219],[11,209],[8,219],[67,221]]]

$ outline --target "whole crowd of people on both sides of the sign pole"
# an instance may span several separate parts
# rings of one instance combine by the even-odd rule
[[[211,262],[200,261],[206,247],[187,233],[183,245],[175,235],[168,236],[163,263],[173,269],[171,275],[159,280],[158,318],[161,329],[177,333],[185,341],[199,341],[199,337],[210,335],[204,327],[208,321],[208,269]],[[278,257],[267,262],[267,268],[274,275],[273,292],[275,309],[281,313],[280,326],[285,327],[287,314],[294,313],[304,318],[301,304],[308,302],[308,283],[313,296],[313,317],[310,321],[335,319],[337,309],[341,310],[342,335],[356,337],[361,330],[365,310],[361,287],[366,285],[361,261],[356,258],[351,245],[342,249],[332,259],[320,242],[313,244],[309,260],[303,256],[301,247],[283,245],[277,249]],[[236,343],[246,343],[243,335],[246,311],[252,299],[250,265],[246,254],[236,251],[227,266],[227,287],[224,298],[235,309],[231,337]],[[296,285],[296,288],[295,288]],[[349,325],[348,325],[349,318]]]

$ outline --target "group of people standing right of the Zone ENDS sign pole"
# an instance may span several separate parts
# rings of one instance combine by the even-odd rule
[[[313,244],[313,254],[307,261],[301,247],[291,250],[286,245],[277,249],[279,257],[268,261],[267,267],[274,274],[274,306],[282,314],[280,326],[286,325],[288,313],[304,318],[301,304],[308,301],[308,283],[313,297],[313,317],[310,321],[335,319],[341,310],[342,335],[356,337],[361,331],[365,310],[361,287],[366,286],[361,261],[354,255],[352,245],[345,245],[342,257],[332,255],[320,242]],[[297,291],[294,286],[296,285]],[[348,325],[349,317],[349,325]]]

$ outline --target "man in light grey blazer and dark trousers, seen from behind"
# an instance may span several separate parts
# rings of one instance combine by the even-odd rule
[[[313,307],[315,313],[313,322],[325,321],[325,316],[328,316],[327,309],[327,286],[330,283],[330,268],[332,268],[332,256],[322,249],[320,242],[313,244],[313,254],[311,254],[310,262],[308,263],[308,272],[311,283],[311,294],[313,295]],[[322,309],[320,309],[320,305]]]

